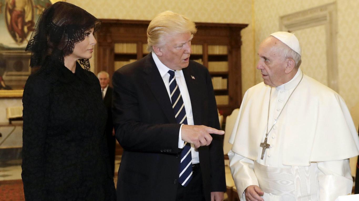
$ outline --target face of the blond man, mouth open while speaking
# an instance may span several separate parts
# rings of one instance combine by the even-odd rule
[[[191,55],[191,33],[165,36],[165,45],[160,47],[160,61],[172,70],[181,70],[188,66]]]

